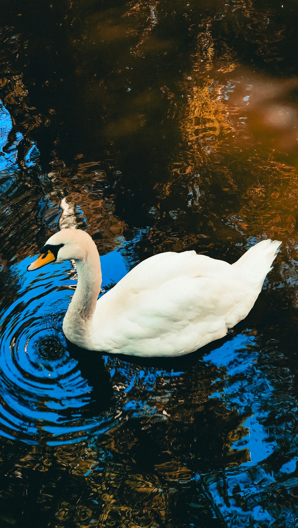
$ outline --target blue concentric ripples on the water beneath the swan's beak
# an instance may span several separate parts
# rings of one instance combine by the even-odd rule
[[[62,332],[69,303],[65,286],[75,284],[66,274],[69,263],[38,275],[26,272],[30,261],[11,268],[10,287],[17,281],[11,296],[17,299],[7,300],[1,313],[0,435],[30,444],[78,442],[111,425],[110,402],[103,393],[104,411],[92,416],[92,386]],[[104,387],[103,376],[110,376],[101,362],[102,371],[96,367]]]

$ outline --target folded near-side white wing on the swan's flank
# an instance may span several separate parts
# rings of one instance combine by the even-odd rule
[[[247,315],[255,297],[241,281],[181,277],[154,291],[128,294],[127,316],[153,331],[171,331],[173,325],[182,328],[203,320],[211,324],[218,319],[231,326]]]

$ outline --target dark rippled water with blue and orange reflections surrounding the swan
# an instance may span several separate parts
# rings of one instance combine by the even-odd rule
[[[0,526],[298,526],[298,65],[293,1],[2,0]],[[283,240],[248,318],[179,360],[83,352],[87,230],[105,289],[195,249]]]

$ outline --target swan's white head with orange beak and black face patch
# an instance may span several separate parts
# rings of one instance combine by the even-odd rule
[[[80,229],[63,229],[49,238],[41,250],[41,256],[27,267],[28,271],[39,269],[50,262],[64,260],[86,260],[87,253],[96,245],[88,233]],[[96,250],[97,251],[97,250]]]

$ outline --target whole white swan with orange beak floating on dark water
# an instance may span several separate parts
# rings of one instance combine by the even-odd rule
[[[98,299],[99,254],[84,231],[63,229],[28,270],[74,259],[78,284],[63,320],[72,343],[138,356],[187,354],[247,316],[281,242],[263,240],[230,265],[195,251],[154,255]]]

